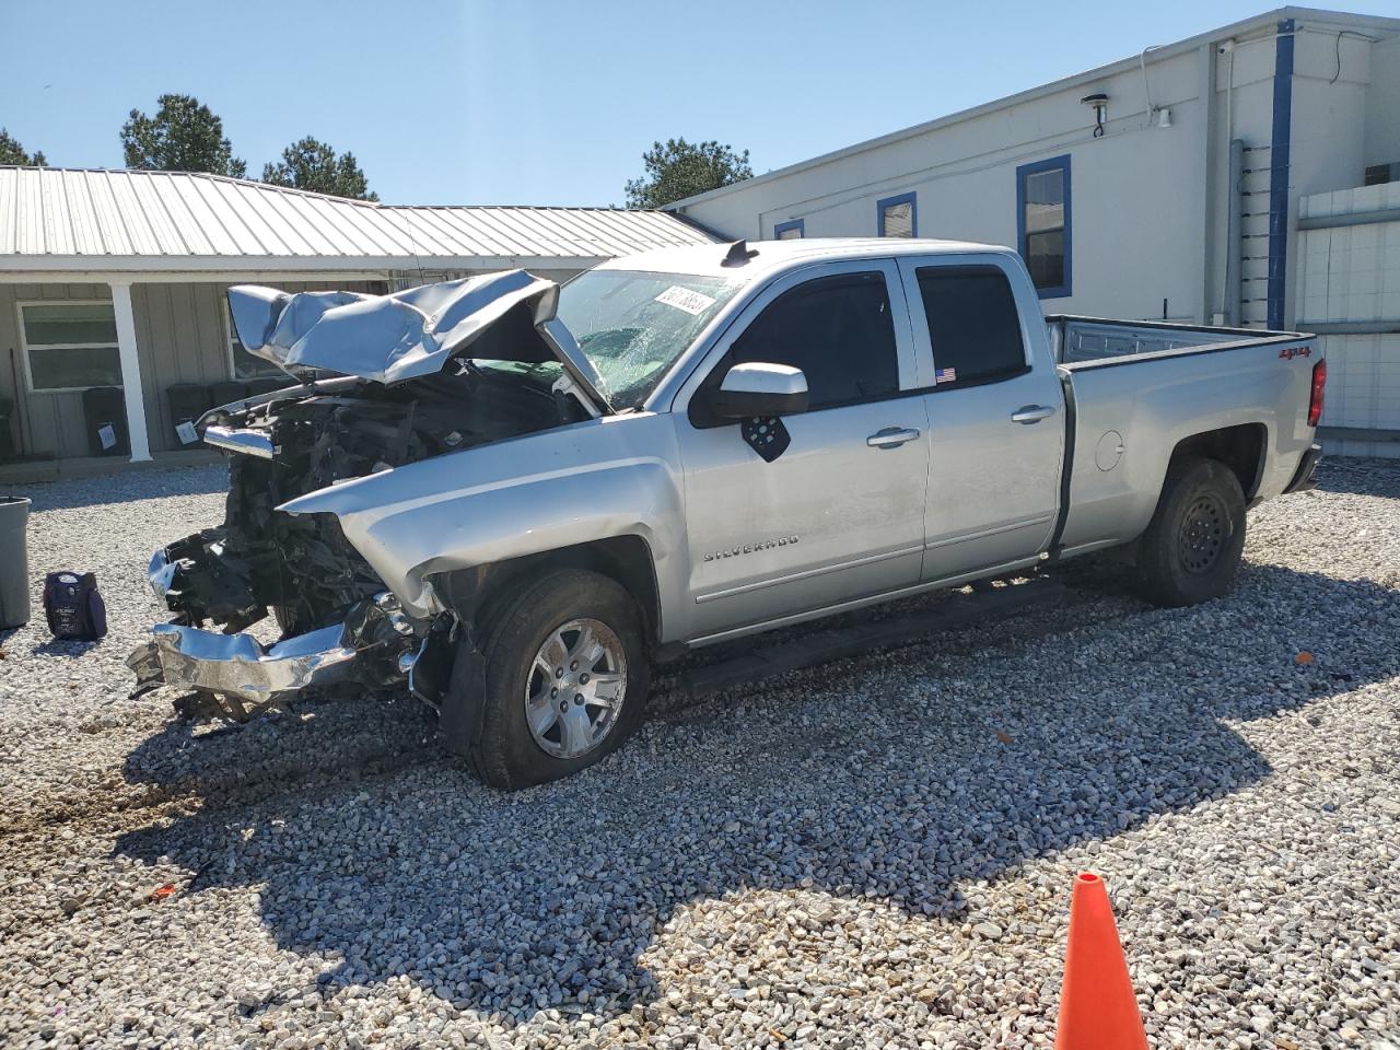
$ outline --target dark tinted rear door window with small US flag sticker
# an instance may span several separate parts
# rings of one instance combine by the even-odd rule
[[[918,291],[934,344],[934,389],[976,386],[1026,371],[1011,281],[995,266],[931,266]]]

